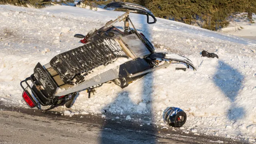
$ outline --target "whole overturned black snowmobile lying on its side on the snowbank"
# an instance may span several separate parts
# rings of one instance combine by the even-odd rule
[[[144,13],[147,23],[153,24],[156,18],[150,10],[124,2],[112,2],[106,7],[125,8],[128,11],[116,20],[110,20],[102,28],[91,30],[86,36],[76,34],[75,37],[82,38],[80,42],[84,43],[83,46],[58,54],[43,66],[38,63],[34,74],[20,82],[24,90],[22,97],[31,108],[36,106],[42,110],[41,106],[50,106],[46,109],[50,110],[65,103],[66,107],[70,107],[76,92],[80,90],[87,90],[90,98],[90,92],[95,92],[94,88],[106,82],[114,82],[124,88],[148,72],[169,66],[172,61],[183,62],[188,68],[191,66],[195,69],[184,56],[157,53],[147,38],[138,33],[129,13]],[[153,22],[149,22],[149,16]],[[114,26],[118,22],[121,25],[124,22],[124,26],[119,27],[121,30]],[[108,68],[118,58],[126,58],[126,62],[94,74],[93,71],[98,67]],[[24,82],[26,87],[23,86]]]

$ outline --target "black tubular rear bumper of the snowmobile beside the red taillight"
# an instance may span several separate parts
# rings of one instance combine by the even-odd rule
[[[32,82],[32,84],[33,84],[32,87],[30,86],[30,84],[28,84],[28,81]],[[24,82],[26,84],[25,87],[22,85],[22,83],[24,83]],[[50,106],[50,108],[48,108],[46,110],[42,110],[42,111],[48,111],[48,110],[51,110],[58,106],[61,106],[61,105],[65,104],[66,102],[68,102],[69,100],[71,100],[74,96],[76,96],[75,94],[71,94],[71,96],[66,95],[66,96],[61,96],[61,97],[47,98],[41,90],[37,90],[34,74],[32,74],[30,77],[26,78],[25,80],[22,80],[20,82],[20,86],[23,89],[22,94],[24,92],[26,92],[26,94],[28,95],[30,100],[32,100],[32,102],[35,104],[35,106],[36,106],[36,108],[38,108],[38,110],[42,110],[41,106]],[[29,92],[28,88],[30,89],[31,93]],[[26,102],[26,100],[24,100],[24,101]]]

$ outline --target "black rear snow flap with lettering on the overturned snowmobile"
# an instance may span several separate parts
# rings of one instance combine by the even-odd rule
[[[39,62],[34,68],[34,76],[40,86],[43,87],[42,89],[46,91],[46,96],[48,96],[48,98],[52,98],[57,89],[57,85]]]

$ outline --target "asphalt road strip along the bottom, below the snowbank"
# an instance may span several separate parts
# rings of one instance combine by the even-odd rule
[[[60,116],[55,112],[42,113],[0,104],[0,144],[216,144],[217,140],[242,143],[214,136],[181,134],[178,130],[158,129],[154,125],[117,123],[95,115],[80,116]]]

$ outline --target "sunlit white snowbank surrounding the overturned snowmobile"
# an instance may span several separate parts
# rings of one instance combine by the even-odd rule
[[[74,34],[86,34],[121,14],[71,6],[0,5],[0,100],[28,107],[21,97],[20,81],[33,73],[37,62],[46,64],[55,55],[81,46]],[[197,71],[175,70],[184,65],[172,64],[124,89],[104,84],[90,99],[86,91],[80,92],[70,111],[99,114],[107,110],[131,118],[132,114],[151,113],[151,123],[160,124],[166,108],[179,107],[188,116],[185,133],[255,142],[256,41],[160,18],[149,25],[140,14],[130,14],[130,18],[158,52],[182,54]],[[215,52],[219,59],[201,57],[202,50]]]

